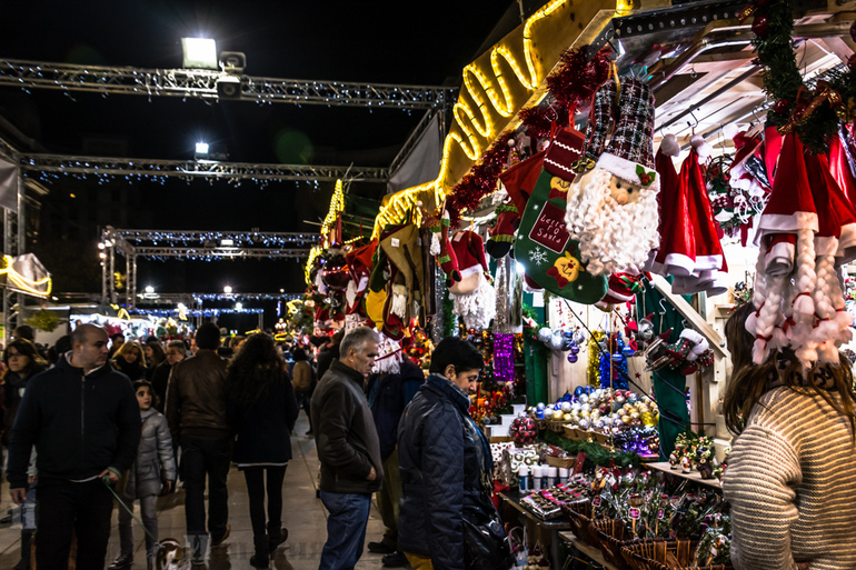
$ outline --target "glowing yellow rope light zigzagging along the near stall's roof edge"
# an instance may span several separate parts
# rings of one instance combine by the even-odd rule
[[[534,43],[531,37],[531,29],[536,22],[550,16],[558,10],[565,0],[553,0],[547,6],[535,12],[531,18],[524,24],[522,44],[524,44],[524,62],[526,64],[526,71],[524,72],[522,66],[515,59],[514,54],[505,46],[495,46],[490,53],[490,68],[492,76],[496,79],[499,89],[494,87],[489,80],[489,76],[481,71],[481,69],[475,63],[470,63],[464,68],[464,87],[466,94],[476,103],[478,111],[481,114],[481,120],[476,117],[472,108],[464,99],[464,94],[458,97],[458,101],[452,107],[452,116],[455,123],[464,132],[461,137],[457,132],[449,132],[446,136],[446,140],[442,144],[442,161],[440,163],[440,173],[437,180],[420,184],[418,187],[408,188],[395,194],[387,206],[380,209],[377,218],[375,219],[375,229],[372,238],[379,236],[384,226],[400,221],[407,211],[412,208],[419,199],[419,194],[422,192],[431,191],[435,196],[435,202],[440,203],[442,198],[448,192],[448,189],[444,187],[444,179],[448,172],[449,154],[451,152],[452,143],[457,143],[464,154],[472,161],[478,160],[481,156],[482,147],[477,136],[485,139],[492,139],[496,136],[496,126],[490,120],[489,109],[485,102],[476,82],[472,78],[476,78],[478,87],[487,94],[487,99],[494,109],[502,117],[511,117],[515,112],[515,107],[511,101],[511,91],[502,73],[500,73],[500,58],[504,59],[511,68],[515,77],[518,79],[529,91],[534,91],[541,81],[541,73],[536,67],[534,53]],[[452,124],[454,128],[454,124]],[[450,129],[451,131],[451,129]],[[466,138],[466,141],[465,141]]]

